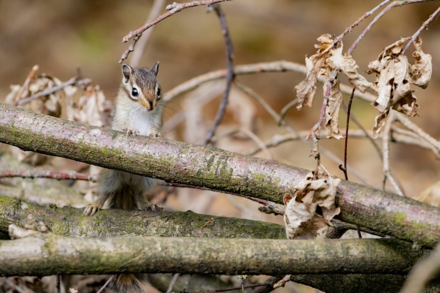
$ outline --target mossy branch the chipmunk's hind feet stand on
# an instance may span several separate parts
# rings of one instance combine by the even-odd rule
[[[44,208],[0,196],[0,232],[9,224],[25,227],[27,217],[43,221],[50,231],[62,236],[194,236],[213,216],[193,212],[152,212],[146,210],[100,210],[92,217],[83,209]],[[214,217],[202,230],[202,237],[286,239],[284,226],[262,221]]]

